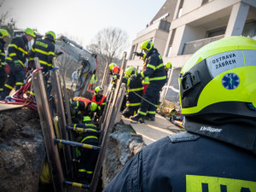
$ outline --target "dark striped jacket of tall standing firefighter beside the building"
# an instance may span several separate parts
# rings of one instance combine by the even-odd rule
[[[160,80],[166,81],[166,71],[161,55],[157,49],[151,49],[148,51],[146,59],[146,69],[139,73],[139,77],[147,77],[150,82],[159,82]]]

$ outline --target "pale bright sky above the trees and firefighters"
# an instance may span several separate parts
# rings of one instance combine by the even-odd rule
[[[0,0],[0,15],[9,15],[20,29],[64,34],[83,46],[104,28],[119,27],[131,44],[166,0]]]

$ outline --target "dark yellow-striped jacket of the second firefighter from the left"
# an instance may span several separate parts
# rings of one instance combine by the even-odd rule
[[[6,62],[19,61],[20,64],[25,67],[27,53],[27,39],[23,35],[18,38],[14,38],[8,46],[8,55],[6,57]]]

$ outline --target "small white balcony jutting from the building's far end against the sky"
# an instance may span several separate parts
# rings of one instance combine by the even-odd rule
[[[143,29],[143,31],[137,33],[137,38],[144,36],[148,32],[153,32],[154,30],[160,29],[166,32],[169,32],[169,28],[171,23],[166,20],[158,20],[154,22],[152,25],[148,26],[147,28]]]

